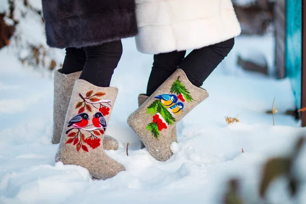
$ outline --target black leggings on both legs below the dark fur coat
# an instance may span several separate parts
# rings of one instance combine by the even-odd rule
[[[109,87],[122,55],[121,41],[93,47],[66,48],[63,74],[82,71],[80,79],[99,86]]]

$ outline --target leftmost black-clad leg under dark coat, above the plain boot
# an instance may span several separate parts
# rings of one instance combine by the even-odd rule
[[[86,62],[86,55],[82,48],[66,48],[66,56],[62,67],[63,74],[82,71]]]

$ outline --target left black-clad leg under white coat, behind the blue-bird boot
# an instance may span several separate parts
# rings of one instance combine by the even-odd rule
[[[184,59],[186,51],[171,52],[154,55],[154,63],[148,81],[146,95],[150,96],[154,91],[170,77]]]

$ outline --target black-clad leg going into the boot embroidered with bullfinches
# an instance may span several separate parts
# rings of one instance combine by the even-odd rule
[[[80,79],[95,86],[109,87],[122,55],[121,40],[93,47],[85,47],[86,63]]]

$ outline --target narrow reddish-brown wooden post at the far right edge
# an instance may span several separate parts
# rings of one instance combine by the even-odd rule
[[[306,107],[306,0],[302,1],[302,91],[301,107]],[[306,112],[301,113],[302,126],[306,126]]]

